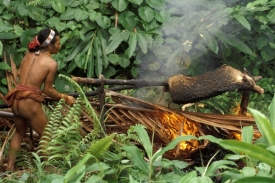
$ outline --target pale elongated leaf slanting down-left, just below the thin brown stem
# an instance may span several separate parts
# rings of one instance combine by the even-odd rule
[[[106,54],[114,51],[122,41],[127,40],[130,35],[130,32],[119,32],[111,36],[110,44],[107,46]]]

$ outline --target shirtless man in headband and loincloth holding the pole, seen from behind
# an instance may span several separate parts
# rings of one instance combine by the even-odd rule
[[[16,128],[10,142],[7,170],[14,169],[16,154],[27,131],[27,122],[40,137],[46,127],[47,118],[41,104],[44,101],[42,92],[56,100],[64,98],[68,105],[74,103],[73,97],[61,94],[53,88],[58,65],[51,54],[58,53],[60,48],[59,33],[49,28],[40,31],[28,45],[29,51],[19,68],[20,83],[6,96],[14,114]]]

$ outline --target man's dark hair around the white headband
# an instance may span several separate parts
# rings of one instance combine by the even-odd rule
[[[56,36],[59,36],[59,32],[55,29],[52,29],[52,30],[55,32],[55,35],[50,43],[54,44],[56,42]],[[39,42],[40,45],[48,38],[48,36],[50,35],[50,32],[51,32],[50,28],[45,28],[38,33],[37,41]],[[31,41],[31,42],[33,42],[33,41]],[[29,45],[31,44],[31,42],[29,43]],[[41,46],[39,46],[39,45],[35,45],[35,47],[28,46],[28,49],[30,52],[36,52],[41,49]]]

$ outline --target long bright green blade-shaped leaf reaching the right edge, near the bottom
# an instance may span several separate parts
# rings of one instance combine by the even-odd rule
[[[218,144],[226,149],[247,154],[252,158],[258,159],[271,166],[275,166],[275,155],[260,146],[237,140],[223,140],[219,141]]]

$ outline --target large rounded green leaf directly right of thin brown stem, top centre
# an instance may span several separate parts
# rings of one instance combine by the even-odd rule
[[[137,17],[136,15],[131,11],[124,11],[121,14],[119,14],[118,18],[119,22],[125,29],[132,30],[135,28],[137,24]]]

